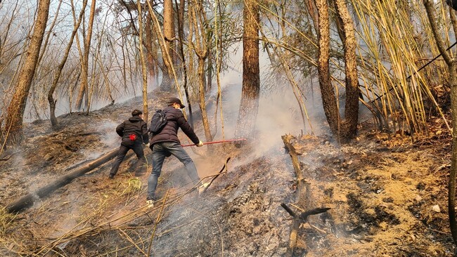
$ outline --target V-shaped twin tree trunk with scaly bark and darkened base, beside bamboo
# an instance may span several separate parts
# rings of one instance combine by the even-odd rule
[[[356,136],[359,121],[359,81],[356,64],[356,39],[354,25],[347,10],[345,1],[335,1],[337,11],[338,32],[345,50],[345,117],[342,119],[338,107],[338,98],[330,81],[330,20],[328,3],[324,0],[316,1],[318,10],[318,77],[321,88],[323,110],[333,136],[341,143],[347,143]]]

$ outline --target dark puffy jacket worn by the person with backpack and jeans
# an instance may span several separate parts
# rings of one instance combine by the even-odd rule
[[[167,115],[167,125],[160,131],[160,133],[153,135],[150,138],[149,147],[153,147],[155,143],[160,142],[176,142],[181,143],[178,138],[178,129],[181,130],[192,140],[193,143],[198,144],[200,139],[195,135],[191,125],[188,124],[184,114],[179,109],[175,109],[172,106],[165,107],[165,114]],[[152,149],[152,148],[151,148]]]

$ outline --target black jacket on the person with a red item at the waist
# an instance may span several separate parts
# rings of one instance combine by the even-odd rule
[[[139,116],[130,117],[116,128],[117,135],[122,137],[122,143],[129,141],[131,134],[136,135],[135,143],[148,143],[148,124]]]

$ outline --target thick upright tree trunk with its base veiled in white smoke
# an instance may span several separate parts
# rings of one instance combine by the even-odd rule
[[[236,122],[237,138],[255,138],[255,124],[259,112],[259,6],[254,0],[245,1],[243,8],[243,87],[240,110]],[[241,142],[241,141],[240,141]],[[236,144],[240,147],[240,143]]]

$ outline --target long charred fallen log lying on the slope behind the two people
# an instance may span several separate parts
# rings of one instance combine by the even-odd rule
[[[54,190],[63,187],[64,185],[67,185],[75,178],[82,176],[85,173],[88,173],[89,171],[95,169],[98,166],[101,166],[102,164],[105,164],[106,162],[110,161],[110,159],[116,157],[116,155],[117,148],[115,150],[111,150],[107,154],[104,154],[98,159],[95,159],[94,161],[89,162],[88,164],[75,169],[75,171],[71,171],[70,173],[60,176],[60,178],[57,178],[48,185],[39,188],[37,191],[28,193],[27,195],[20,197],[20,199],[17,199],[12,204],[6,206],[6,210],[9,213],[18,213],[20,211],[23,211],[24,209],[30,207],[37,199],[46,197]]]

